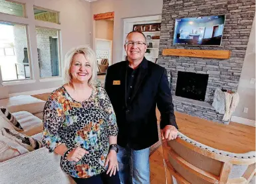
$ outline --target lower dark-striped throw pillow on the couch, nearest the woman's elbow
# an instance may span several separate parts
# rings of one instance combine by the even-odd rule
[[[31,138],[30,136],[25,136],[17,132],[16,130],[1,128],[1,132],[3,136],[6,136],[11,140],[15,140],[15,142],[19,143],[21,146],[29,151],[37,150],[43,147],[43,143],[40,140],[36,140],[35,138]]]

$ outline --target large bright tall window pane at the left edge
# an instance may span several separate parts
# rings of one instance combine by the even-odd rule
[[[0,67],[3,81],[29,79],[26,26],[0,22]]]

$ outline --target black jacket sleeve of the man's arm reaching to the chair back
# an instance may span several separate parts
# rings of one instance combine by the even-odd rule
[[[166,69],[164,69],[158,85],[158,97],[156,103],[161,113],[160,128],[164,129],[166,125],[172,125],[178,129]]]

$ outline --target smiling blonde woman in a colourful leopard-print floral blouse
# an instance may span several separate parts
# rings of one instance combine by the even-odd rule
[[[120,183],[116,116],[96,83],[96,67],[88,46],[66,54],[65,84],[51,93],[43,111],[43,143],[62,156],[62,169],[76,183]]]

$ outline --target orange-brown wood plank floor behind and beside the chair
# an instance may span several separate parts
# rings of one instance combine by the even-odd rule
[[[48,96],[49,93],[34,95],[45,101]],[[159,119],[160,113],[158,110],[156,112]],[[255,150],[255,128],[252,126],[236,122],[225,125],[177,112],[175,115],[179,131],[197,142],[237,154]],[[150,156],[150,182],[166,183],[162,146]],[[170,183],[169,175],[168,183]]]

